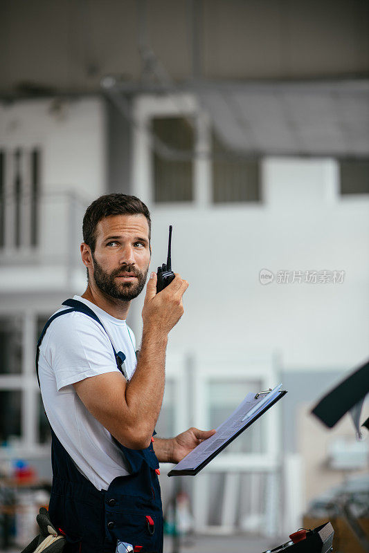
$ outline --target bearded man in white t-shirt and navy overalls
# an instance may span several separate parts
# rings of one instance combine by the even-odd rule
[[[160,462],[178,462],[214,431],[191,428],[152,438],[165,384],[168,333],[183,315],[187,281],[176,274],[156,294],[150,274],[141,351],[125,319],[150,265],[150,213],[138,198],[109,194],[83,221],[82,297],[49,319],[38,344],[38,375],[52,428],[49,512],[67,551],[160,553]],[[118,352],[118,353],[117,353]]]

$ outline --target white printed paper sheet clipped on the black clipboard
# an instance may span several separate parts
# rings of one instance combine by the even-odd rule
[[[210,436],[207,440],[204,440],[204,442],[201,442],[195,449],[192,449],[186,457],[173,467],[173,470],[183,471],[196,469],[202,462],[217,451],[219,447],[222,447],[224,443],[228,442],[230,438],[245,427],[246,424],[249,424],[264,407],[276,399],[281,388],[282,384],[278,384],[271,392],[260,395],[258,399],[255,399],[255,392],[248,393],[242,403],[233,411],[231,416],[217,427],[215,434]]]

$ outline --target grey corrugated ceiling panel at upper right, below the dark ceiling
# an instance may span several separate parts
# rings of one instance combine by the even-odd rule
[[[201,91],[201,99],[235,151],[369,155],[369,86],[245,84]]]

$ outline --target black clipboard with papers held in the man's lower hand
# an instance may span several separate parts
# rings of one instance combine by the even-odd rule
[[[281,386],[282,386],[282,384],[280,384],[280,386],[276,386],[276,388],[278,388],[278,387],[280,388]],[[219,444],[219,447],[215,445],[216,440],[217,440],[217,433],[215,433],[213,436],[208,438],[208,440],[204,440],[204,442],[201,442],[197,447],[195,447],[195,449],[192,449],[192,451],[190,451],[190,453],[188,453],[188,455],[186,457],[184,457],[179,463],[177,463],[177,465],[175,465],[175,467],[172,468],[172,470],[168,473],[168,476],[196,476],[196,474],[198,474],[202,469],[204,469],[204,467],[206,467],[206,465],[208,465],[208,463],[210,461],[212,461],[217,455],[219,455],[219,453],[221,453],[221,451],[226,449],[226,447],[228,447],[228,445],[231,444],[233,442],[233,440],[238,438],[238,436],[241,435],[242,432],[244,432],[246,429],[251,427],[251,424],[253,424],[255,422],[255,420],[258,420],[262,415],[264,415],[264,413],[269,411],[271,406],[275,405],[279,400],[282,399],[282,397],[284,397],[286,395],[286,393],[287,393],[286,390],[279,390],[279,391],[276,392],[276,396],[273,397],[273,399],[271,399],[268,402],[267,400],[268,400],[269,394],[276,391],[276,388],[274,388],[274,390],[271,390],[271,388],[269,388],[269,390],[267,390],[267,391],[258,392],[256,394],[252,393],[251,395],[253,395],[253,398],[255,400],[257,400],[258,397],[260,397],[262,395],[264,396],[264,397],[262,397],[262,400],[260,400],[260,409],[256,409],[256,411],[255,411],[254,406],[253,406],[253,408],[249,409],[249,411],[245,411],[245,413],[244,413],[245,414],[244,422],[242,422],[242,421],[239,422],[240,428],[237,429],[228,439],[223,439],[222,443]],[[266,394],[268,394],[268,395],[266,395]],[[246,396],[246,398],[247,397],[248,396]],[[246,398],[245,398],[244,402],[246,401]],[[237,413],[237,411],[240,409],[240,407],[242,406],[242,404],[244,402],[242,402],[240,404],[240,406],[237,407],[237,409],[232,413],[232,415],[220,427],[218,427],[218,429],[221,429],[224,426],[224,424],[226,424],[228,421],[231,420],[231,418]],[[257,406],[257,404],[256,404],[256,406]],[[254,411],[254,412],[251,413],[251,411]],[[249,413],[251,413],[251,415],[249,415]],[[217,431],[218,431],[218,429],[217,429]],[[204,460],[199,462],[195,467],[183,468],[183,464],[186,464],[186,459],[189,458],[189,456],[191,456],[193,452],[196,453],[196,450],[199,447],[204,449],[204,447],[206,447],[206,445],[203,445],[203,444],[206,444],[206,442],[209,442],[209,440],[212,440],[212,439],[214,440],[214,449],[213,449],[213,451],[210,451],[210,453],[208,455],[206,455],[206,458],[204,458]],[[181,467],[181,465],[182,465],[182,467]]]

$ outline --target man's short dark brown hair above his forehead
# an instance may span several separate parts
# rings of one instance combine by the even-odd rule
[[[151,218],[147,206],[136,196],[127,194],[105,194],[94,200],[86,209],[83,218],[83,241],[91,248],[96,247],[96,227],[105,217],[111,215],[145,215],[149,225],[149,241],[151,238]]]

